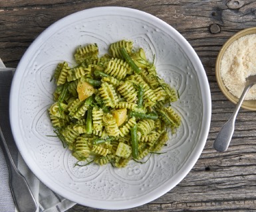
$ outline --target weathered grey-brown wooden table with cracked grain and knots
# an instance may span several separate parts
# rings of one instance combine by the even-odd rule
[[[211,128],[205,148],[191,172],[159,199],[126,211],[256,211],[256,112],[241,109],[227,152],[218,153],[213,149],[217,132],[235,108],[216,83],[216,56],[235,32],[256,26],[256,2],[1,0],[1,59],[6,66],[15,68],[31,42],[47,26],[76,11],[100,6],[139,9],[172,25],[197,52],[211,88]],[[80,205],[68,210],[75,211],[101,210]]]

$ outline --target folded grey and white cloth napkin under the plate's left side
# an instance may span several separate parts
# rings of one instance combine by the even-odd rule
[[[0,68],[4,68],[4,64],[0,59]],[[11,133],[11,126],[9,122],[9,92],[11,88],[11,80],[13,72],[0,70],[0,126],[7,141],[7,145],[11,152],[11,156],[23,176],[26,178],[29,187],[31,188],[37,205],[39,206],[37,212],[62,212],[70,209],[76,203],[64,199],[57,193],[51,191],[46,185],[40,182],[36,176],[29,170],[25,164],[21,154],[17,150],[13,136]],[[13,197],[9,188],[9,172],[3,151],[0,148],[0,212],[14,212],[15,205]]]

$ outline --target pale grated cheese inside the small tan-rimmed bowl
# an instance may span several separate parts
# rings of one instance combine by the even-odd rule
[[[245,88],[246,78],[256,74],[256,34],[235,40],[223,54],[221,78],[229,92],[239,98]],[[256,100],[256,85],[249,89],[246,100]]]

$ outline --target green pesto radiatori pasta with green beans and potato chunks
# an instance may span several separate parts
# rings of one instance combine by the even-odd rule
[[[131,41],[110,44],[103,56],[97,44],[80,46],[74,60],[74,67],[57,65],[49,117],[76,165],[122,168],[130,160],[142,162],[166,144],[168,128],[175,133],[180,127],[170,106],[178,91],[157,76],[154,63]]]

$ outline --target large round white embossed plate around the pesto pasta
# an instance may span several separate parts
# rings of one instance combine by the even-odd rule
[[[53,135],[47,109],[55,89],[50,78],[58,62],[74,62],[79,45],[97,43],[106,53],[112,42],[141,46],[159,74],[180,92],[173,107],[182,126],[170,136],[166,154],[127,168],[74,167],[76,160]],[[99,7],[74,13],[47,28],[31,44],[11,87],[10,119],[15,141],[33,173],[67,199],[100,209],[128,209],[148,203],[177,185],[193,168],[205,145],[211,95],[205,70],[186,39],[160,19],[134,9]]]

